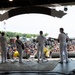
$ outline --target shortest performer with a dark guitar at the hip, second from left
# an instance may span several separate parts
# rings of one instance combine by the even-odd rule
[[[16,40],[16,46],[17,46],[17,50],[19,52],[19,63],[22,63],[22,45],[23,45],[23,42],[19,39],[19,36],[17,35],[16,36],[17,40]]]

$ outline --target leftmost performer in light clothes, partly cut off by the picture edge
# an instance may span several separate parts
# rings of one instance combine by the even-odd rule
[[[7,62],[7,40],[5,38],[4,32],[1,32],[0,46],[1,46],[2,63],[6,63]]]

